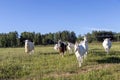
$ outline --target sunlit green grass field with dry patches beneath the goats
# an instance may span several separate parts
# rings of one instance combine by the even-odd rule
[[[61,57],[53,46],[36,46],[28,55],[24,48],[0,48],[0,80],[120,80],[120,43],[106,54],[101,43],[89,44],[82,67],[75,54]]]

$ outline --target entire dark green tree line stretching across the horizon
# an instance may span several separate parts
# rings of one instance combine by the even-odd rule
[[[104,38],[111,38],[113,41],[120,41],[120,33],[112,31],[92,31],[85,34],[88,37],[88,42],[101,42]],[[0,33],[0,47],[20,47],[24,46],[24,41],[28,39],[34,42],[35,45],[55,44],[60,39],[75,43],[83,40],[83,35],[76,36],[74,31],[58,31],[56,33],[35,33],[22,32],[20,35],[17,31],[9,33]]]

